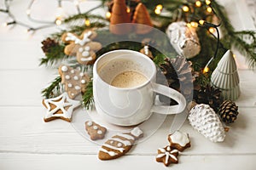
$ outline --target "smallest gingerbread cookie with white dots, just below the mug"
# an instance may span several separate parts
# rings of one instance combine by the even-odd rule
[[[103,139],[105,137],[105,133],[107,133],[107,128],[91,121],[85,122],[85,130],[92,140]]]

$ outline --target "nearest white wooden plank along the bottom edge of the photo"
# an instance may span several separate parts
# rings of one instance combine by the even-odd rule
[[[174,170],[254,170],[256,155],[223,156],[179,156],[179,163],[165,167],[152,156],[123,156],[117,160],[99,161],[94,155],[49,155],[0,153],[0,168],[8,170],[131,170],[131,169],[174,169]],[[244,161],[246,160],[246,161]],[[132,162],[132,163],[131,163]],[[249,162],[249,163],[248,163]],[[193,168],[191,168],[193,167]]]

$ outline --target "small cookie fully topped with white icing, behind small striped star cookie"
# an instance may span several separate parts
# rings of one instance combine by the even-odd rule
[[[190,147],[189,134],[176,131],[168,135],[168,140],[172,148],[175,148],[179,151],[183,151]]]

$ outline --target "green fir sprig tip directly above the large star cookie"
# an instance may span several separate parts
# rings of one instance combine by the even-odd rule
[[[61,77],[56,77],[47,88],[42,90],[41,94],[44,98],[49,99],[61,94]]]

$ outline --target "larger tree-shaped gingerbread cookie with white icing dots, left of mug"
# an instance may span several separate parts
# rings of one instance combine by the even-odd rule
[[[59,74],[61,83],[65,85],[65,91],[71,99],[74,99],[81,92],[84,93],[87,82],[90,81],[90,77],[87,74],[67,65],[59,67]]]

